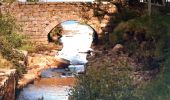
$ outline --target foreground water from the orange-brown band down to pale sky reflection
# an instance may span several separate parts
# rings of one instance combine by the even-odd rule
[[[23,88],[17,100],[68,100],[74,78],[42,78]]]

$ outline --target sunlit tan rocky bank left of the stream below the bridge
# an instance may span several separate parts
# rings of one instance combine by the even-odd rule
[[[23,74],[18,81],[18,88],[23,88],[27,84],[38,79],[43,70],[49,68],[61,68],[69,64],[69,62],[56,58],[56,50],[44,51],[41,53],[31,53],[27,56],[27,73]]]

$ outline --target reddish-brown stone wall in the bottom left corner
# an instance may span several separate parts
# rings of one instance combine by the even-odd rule
[[[0,69],[0,100],[15,100],[16,69]]]

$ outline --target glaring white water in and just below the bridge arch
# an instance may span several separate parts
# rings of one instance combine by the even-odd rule
[[[76,69],[76,72],[83,72],[88,61],[86,59],[87,52],[92,50],[93,29],[88,25],[79,24],[62,24],[64,30],[74,32],[66,33],[62,36],[61,42],[63,49],[56,55],[70,61],[70,69]]]

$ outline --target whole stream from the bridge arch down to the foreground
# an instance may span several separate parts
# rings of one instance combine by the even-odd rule
[[[68,100],[69,89],[74,85],[74,75],[85,71],[87,51],[92,50],[93,29],[77,21],[64,22],[63,29],[71,30],[61,37],[62,50],[56,54],[70,61],[68,69],[48,69],[21,90],[17,100]],[[74,31],[74,33],[73,33]]]

